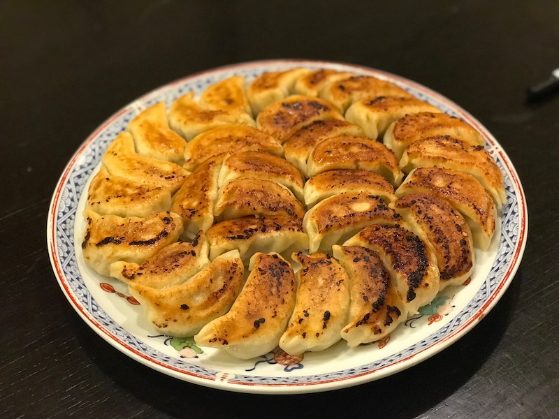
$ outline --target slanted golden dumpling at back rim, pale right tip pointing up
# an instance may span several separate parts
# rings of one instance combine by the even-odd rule
[[[292,68],[286,71],[263,73],[247,86],[252,114],[258,115],[270,103],[282,101],[293,93],[293,85],[298,78],[309,73],[307,68]]]

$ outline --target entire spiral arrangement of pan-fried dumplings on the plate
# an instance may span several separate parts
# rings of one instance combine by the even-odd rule
[[[82,253],[154,329],[236,358],[389,335],[475,269],[506,200],[484,137],[386,80],[240,76],[133,119]]]

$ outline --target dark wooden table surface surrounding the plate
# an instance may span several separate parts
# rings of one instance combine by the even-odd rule
[[[508,291],[456,344],[389,378],[282,396],[182,382],[103,341],[52,272],[48,205],[96,126],[177,78],[275,58],[439,91],[523,182],[529,237]],[[558,418],[559,95],[525,95],[557,67],[557,1],[1,1],[0,417]]]

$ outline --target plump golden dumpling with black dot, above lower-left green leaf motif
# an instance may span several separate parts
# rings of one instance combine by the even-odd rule
[[[238,251],[231,251],[182,284],[158,290],[131,282],[128,288],[154,328],[164,335],[189,337],[226,314],[240,293],[244,273]]]

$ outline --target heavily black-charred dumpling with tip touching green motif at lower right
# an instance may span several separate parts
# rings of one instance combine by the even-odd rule
[[[375,224],[363,228],[344,243],[379,253],[395,281],[407,312],[416,314],[439,292],[439,270],[426,244],[402,226]]]

